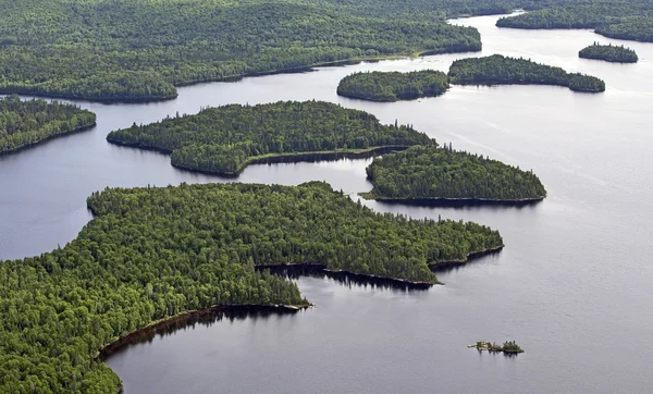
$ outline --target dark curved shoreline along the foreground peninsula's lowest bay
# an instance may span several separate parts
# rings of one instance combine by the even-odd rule
[[[243,304],[243,305],[215,305],[211,307],[185,310],[183,312],[153,321],[143,328],[136,329],[128,332],[127,334],[120,336],[115,341],[112,341],[102,346],[96,354],[95,359],[100,361],[106,360],[113,353],[122,349],[123,347],[144,340],[147,337],[153,337],[159,331],[169,329],[173,325],[184,324],[186,325],[190,320],[201,318],[204,316],[212,315],[220,311],[271,311],[278,313],[295,313],[301,309],[308,309],[312,307],[309,305],[258,305],[258,304]]]

